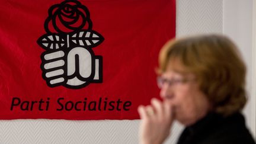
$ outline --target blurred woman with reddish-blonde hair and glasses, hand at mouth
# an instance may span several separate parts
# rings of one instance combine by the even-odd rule
[[[185,129],[178,144],[252,144],[241,110],[245,64],[227,37],[170,40],[159,54],[158,87],[163,101],[138,108],[140,144],[160,144],[174,120]]]

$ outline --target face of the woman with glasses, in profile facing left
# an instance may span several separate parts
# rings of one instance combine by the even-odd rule
[[[160,95],[165,103],[173,106],[174,119],[185,126],[196,123],[206,116],[210,104],[200,91],[193,73],[181,74],[169,69],[162,73]]]

